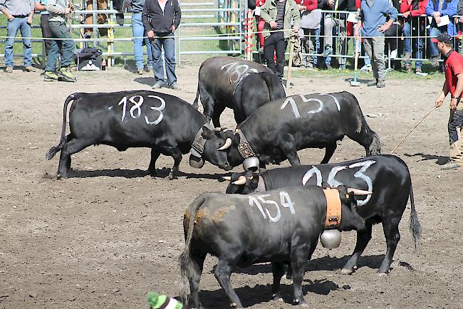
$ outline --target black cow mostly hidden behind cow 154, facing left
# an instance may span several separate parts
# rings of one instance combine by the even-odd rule
[[[358,201],[359,206],[362,206],[358,209],[358,213],[365,219],[366,229],[358,231],[357,244],[352,256],[343,267],[343,273],[353,273],[358,257],[371,239],[372,226],[378,223],[383,223],[387,244],[379,273],[389,271],[392,256],[400,240],[399,222],[407,206],[409,195],[410,231],[415,249],[419,247],[421,227],[415,211],[412,179],[407,164],[393,155],[371,156],[335,164],[271,169],[261,174],[253,174],[251,171],[234,173],[231,175],[227,193],[249,194],[306,184],[321,186],[322,182],[328,182],[330,185],[345,184],[348,187],[373,192],[366,199]]]

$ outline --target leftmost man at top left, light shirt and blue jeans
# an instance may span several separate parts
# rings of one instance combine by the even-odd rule
[[[5,64],[6,73],[13,73],[14,37],[21,31],[23,37],[24,70],[35,72],[32,66],[31,23],[33,17],[33,0],[0,0],[0,11],[6,16]]]

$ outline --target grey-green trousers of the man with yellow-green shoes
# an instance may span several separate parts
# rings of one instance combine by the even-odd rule
[[[69,27],[63,21],[48,21],[50,32],[53,38],[71,38]],[[61,67],[71,65],[71,60],[74,55],[76,45],[72,40],[55,41],[50,40],[50,49],[48,50],[48,57],[46,58],[45,70],[52,72],[55,70],[58,54],[61,51]]]

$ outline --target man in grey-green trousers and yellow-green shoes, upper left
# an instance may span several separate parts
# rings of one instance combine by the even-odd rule
[[[66,16],[71,14],[73,9],[73,4],[70,4],[68,0],[48,0],[46,10],[50,12],[48,25],[50,26],[51,37],[64,38],[64,40],[50,41],[43,80],[76,81],[76,76],[71,72],[71,60],[76,50],[76,44],[71,39],[69,27],[66,26]],[[59,53],[61,53],[61,68],[56,73],[56,61]]]

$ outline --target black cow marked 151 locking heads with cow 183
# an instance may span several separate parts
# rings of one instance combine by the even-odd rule
[[[299,165],[297,151],[305,148],[326,148],[321,163],[328,163],[336,141],[345,135],[365,147],[366,155],[380,154],[378,135],[368,127],[355,96],[345,91],[274,100],[241,122],[236,132],[222,132],[233,141],[229,162],[234,167],[246,155],[258,157],[261,167],[285,159]]]

